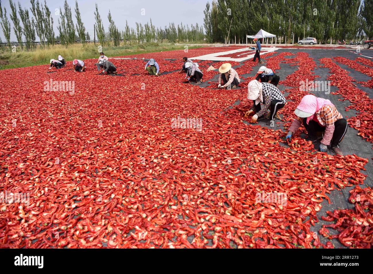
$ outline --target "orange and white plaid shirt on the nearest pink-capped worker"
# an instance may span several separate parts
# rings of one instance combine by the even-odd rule
[[[334,105],[324,105],[322,108],[319,109],[319,111],[315,113],[313,120],[315,120],[315,117],[319,124],[325,127],[325,133],[321,143],[325,144],[326,146],[329,146],[330,141],[333,138],[333,133],[335,129],[334,123],[335,121],[342,119],[343,116],[338,112]],[[292,133],[296,133],[300,126],[301,121],[295,119],[292,122],[289,131],[291,131]]]

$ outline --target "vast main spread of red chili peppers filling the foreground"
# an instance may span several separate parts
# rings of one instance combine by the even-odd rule
[[[144,58],[173,71],[181,60],[162,56],[184,54]],[[293,60],[303,73],[307,57]],[[124,76],[97,75],[96,61],[84,73],[68,64],[1,74],[0,192],[29,193],[29,203],[0,202],[0,248],[321,247],[310,230],[320,203],[364,182],[366,159],[311,154],[300,138],[284,147],[282,131],[242,123],[228,107],[247,89],[148,76],[141,60],[114,60]],[[75,92],[45,91],[50,79],[75,81]],[[202,119],[202,130],[172,127],[178,117]],[[263,192],[287,202],[257,202]]]

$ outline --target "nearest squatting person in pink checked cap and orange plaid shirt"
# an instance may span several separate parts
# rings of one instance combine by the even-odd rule
[[[327,99],[306,95],[295,109],[297,118],[289,128],[286,140],[291,141],[292,134],[298,131],[301,122],[307,130],[308,137],[316,144],[317,132],[323,132],[320,151],[326,152],[327,146],[335,154],[343,155],[339,144],[347,132],[347,120],[338,112],[335,105]]]

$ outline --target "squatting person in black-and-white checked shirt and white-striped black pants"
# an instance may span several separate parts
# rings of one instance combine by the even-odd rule
[[[270,109],[270,116],[267,125],[274,122],[277,111],[285,106],[285,98],[280,90],[270,83],[260,83],[257,80],[252,80],[247,85],[247,99],[253,100],[253,106],[245,113],[245,117],[251,113],[255,113],[251,118],[251,122],[255,123],[258,118],[263,117]],[[260,103],[264,104],[261,108]]]

